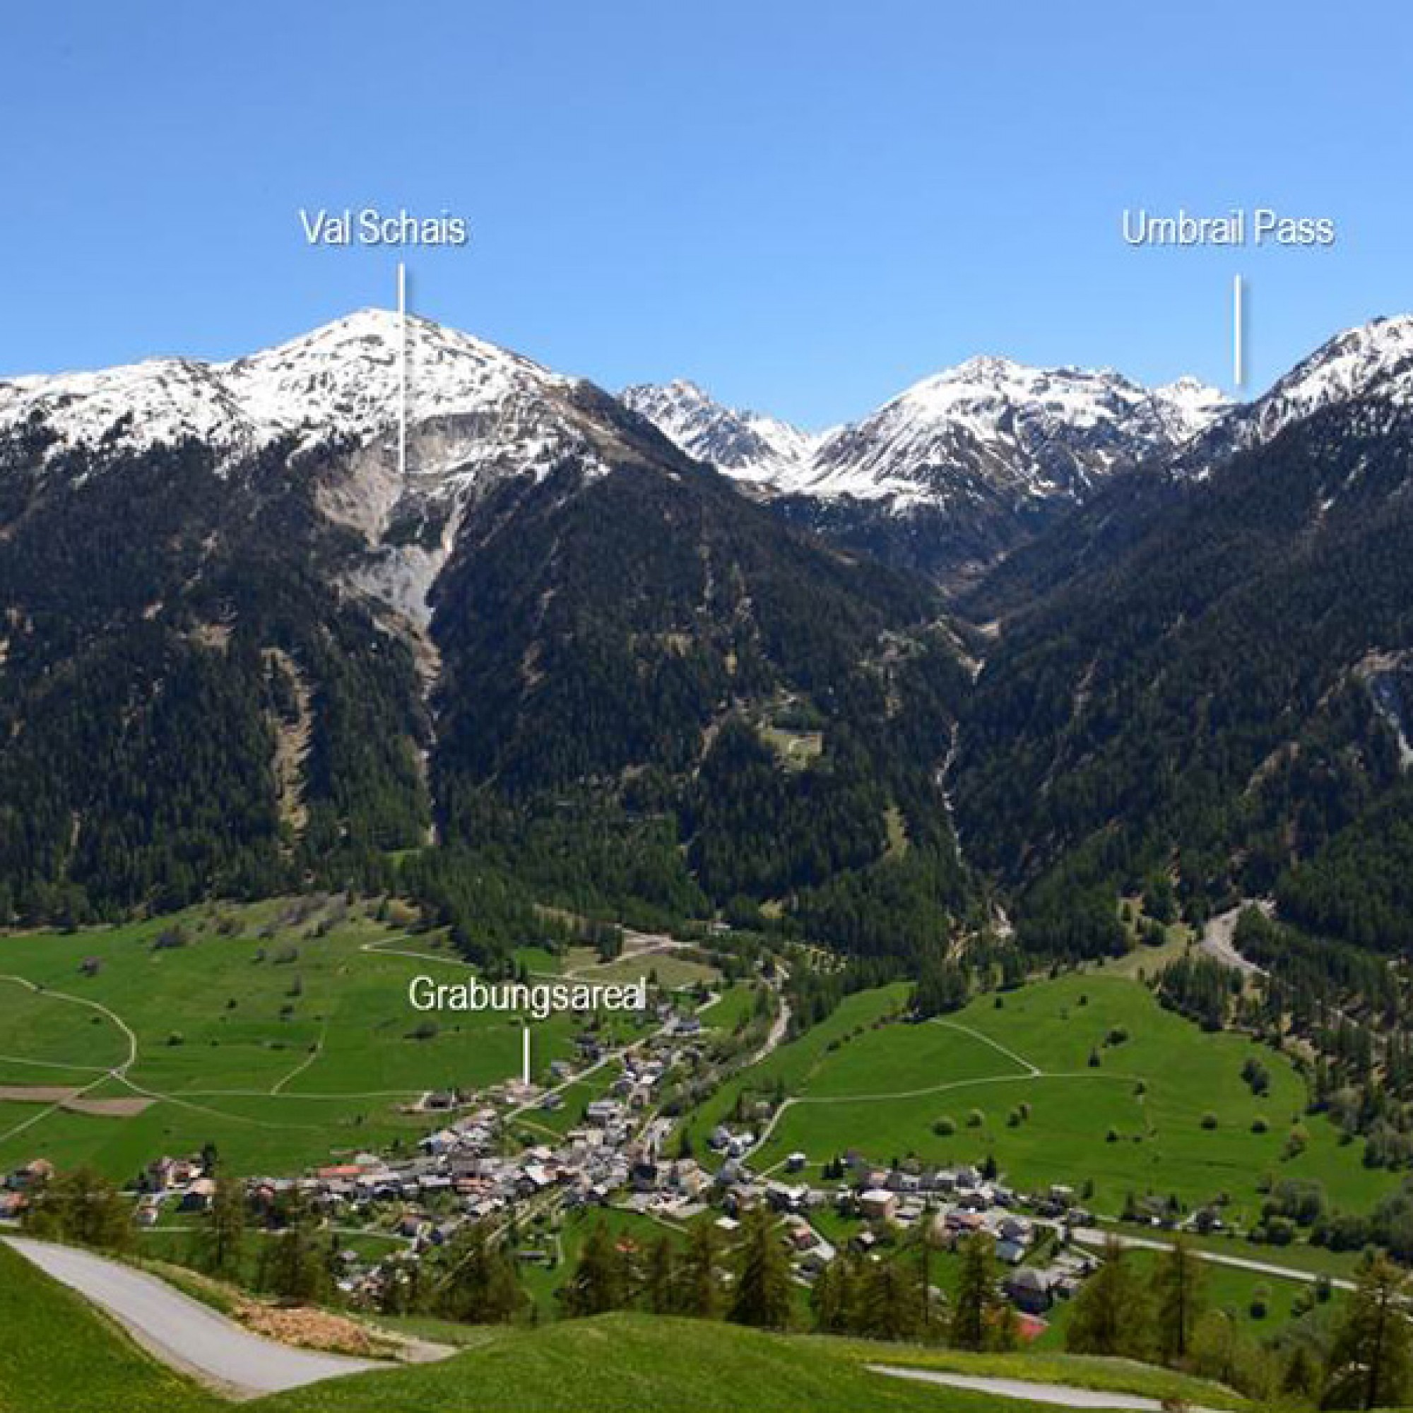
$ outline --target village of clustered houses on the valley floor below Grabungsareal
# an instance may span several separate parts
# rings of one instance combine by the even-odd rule
[[[821,1181],[807,1180],[804,1153],[757,1173],[749,1156],[760,1136],[728,1123],[711,1132],[709,1157],[698,1160],[690,1145],[673,1142],[674,1122],[661,1115],[660,1101],[668,1075],[698,1054],[701,1022],[670,1006],[658,1020],[651,1036],[617,1048],[592,1033],[579,1036],[577,1060],[551,1064],[545,1087],[510,1080],[466,1095],[428,1092],[415,1108],[434,1126],[415,1152],[355,1153],[302,1176],[253,1177],[247,1205],[277,1222],[298,1204],[333,1232],[387,1238],[401,1265],[449,1245],[471,1222],[512,1229],[519,1262],[555,1265],[557,1243],[543,1235],[551,1218],[613,1208],[675,1229],[709,1219],[729,1239],[745,1214],[764,1207],[779,1214],[794,1276],[805,1286],[845,1245],[863,1259],[883,1259],[921,1232],[938,1252],[985,1234],[1029,1337],[1043,1332],[1046,1313],[1096,1267],[1094,1256],[1056,1239],[1092,1224],[1063,1186],[1019,1194],[993,1170],[880,1167],[858,1152],[815,1167]],[[571,1085],[613,1068],[572,1126],[548,1126],[567,1118]],[[18,1215],[25,1191],[49,1176],[44,1169],[41,1160],[10,1174],[0,1195],[4,1215]],[[162,1156],[131,1194],[134,1221],[141,1229],[199,1221],[213,1194],[213,1174],[199,1156]],[[389,1270],[386,1258],[350,1245],[339,1255],[338,1286],[353,1303],[376,1303]]]

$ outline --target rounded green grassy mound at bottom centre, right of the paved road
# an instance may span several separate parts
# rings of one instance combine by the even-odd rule
[[[1225,1390],[1163,1371],[1092,1359],[971,1359],[910,1347],[759,1334],[733,1325],[605,1316],[489,1335],[439,1365],[360,1375],[250,1405],[260,1413],[435,1413],[466,1406],[524,1413],[858,1413],[859,1409],[982,1413],[996,1400],[872,1373],[889,1362],[1239,1406]],[[1024,1413],[1029,1402],[1006,1402]]]

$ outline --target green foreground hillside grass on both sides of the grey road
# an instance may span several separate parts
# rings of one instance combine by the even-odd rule
[[[81,1297],[0,1246],[0,1413],[213,1413],[227,1407],[138,1349]],[[1161,1369],[1061,1355],[961,1355],[769,1335],[735,1325],[615,1314],[537,1330],[456,1327],[465,1349],[435,1365],[400,1366],[243,1405],[260,1413],[982,1413],[995,1400],[872,1373],[866,1365],[992,1373],[1081,1388],[1184,1395],[1242,1406],[1228,1390]],[[427,1330],[445,1338],[447,1327]],[[1024,1413],[1029,1402],[1007,1400]]]

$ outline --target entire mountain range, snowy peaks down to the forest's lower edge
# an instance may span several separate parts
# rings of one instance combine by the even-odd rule
[[[1251,404],[979,357],[811,435],[379,311],[0,382],[0,910],[315,880],[492,961],[555,903],[893,965],[998,894],[1104,951],[1161,876],[1376,944],[1410,384],[1402,318]]]

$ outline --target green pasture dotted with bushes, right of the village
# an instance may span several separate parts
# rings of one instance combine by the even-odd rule
[[[886,1005],[865,995],[846,1006],[777,1051],[762,1067],[774,1075],[740,1081],[762,1092],[776,1075],[787,1085],[759,1167],[794,1150],[814,1164],[848,1149],[879,1163],[993,1154],[1012,1184],[1082,1187],[1099,1212],[1118,1212],[1128,1193],[1187,1204],[1226,1194],[1231,1219],[1256,1214],[1267,1180],[1317,1180],[1345,1210],[1365,1210],[1399,1183],[1304,1113],[1304,1081],[1289,1060],[1242,1036],[1204,1033],[1123,978],[1034,982],[999,1007],[985,996],[923,1024],[858,1030],[853,1017]],[[1249,1057],[1269,1074],[1263,1095],[1242,1078]],[[729,1112],[726,1095],[714,1108]],[[1291,1154],[1296,1125],[1306,1139]]]

